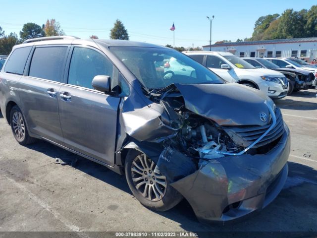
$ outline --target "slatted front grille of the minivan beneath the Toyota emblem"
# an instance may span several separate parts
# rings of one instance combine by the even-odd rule
[[[279,138],[284,131],[283,119],[281,111],[275,110],[276,124],[257,144],[252,148],[264,146],[277,138]],[[226,126],[224,130],[232,138],[233,142],[239,146],[248,147],[255,142],[264,132],[271,126],[272,120],[269,124],[264,126],[250,125],[250,126]]]

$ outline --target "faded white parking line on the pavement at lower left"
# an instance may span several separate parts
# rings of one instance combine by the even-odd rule
[[[16,187],[18,187],[20,190],[25,192],[31,199],[33,199],[35,202],[37,202],[41,207],[43,207],[45,210],[47,210],[49,213],[51,213],[58,221],[60,221],[66,227],[68,227],[69,230],[71,230],[73,232],[77,232],[77,235],[81,238],[89,238],[89,236],[86,233],[82,232],[79,227],[66,221],[66,219],[63,216],[61,216],[59,212],[53,210],[52,207],[50,207],[48,204],[46,204],[45,201],[38,198],[29,189],[27,189],[23,184],[18,183],[14,179],[11,179],[5,175],[4,175],[4,177],[6,179],[8,179],[11,183],[13,183]]]

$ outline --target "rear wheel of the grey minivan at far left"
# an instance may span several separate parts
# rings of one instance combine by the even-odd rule
[[[27,145],[35,142],[35,138],[31,137],[26,128],[25,119],[18,106],[14,106],[10,112],[10,125],[14,138],[20,145]]]

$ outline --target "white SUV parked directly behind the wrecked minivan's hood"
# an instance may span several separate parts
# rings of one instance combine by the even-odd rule
[[[287,95],[287,78],[279,72],[256,68],[229,52],[186,51],[184,54],[202,63],[229,83],[257,88],[273,99]]]

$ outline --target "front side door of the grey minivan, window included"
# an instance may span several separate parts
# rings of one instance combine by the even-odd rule
[[[114,79],[118,71],[97,49],[73,47],[68,83],[58,95],[59,119],[66,147],[113,166],[120,98],[94,90],[96,75]]]

